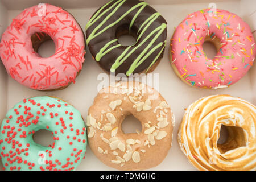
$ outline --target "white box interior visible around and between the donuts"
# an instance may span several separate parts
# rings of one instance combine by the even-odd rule
[[[96,9],[102,6],[108,0],[100,1],[44,1],[52,3],[53,5],[63,7],[69,13],[71,13],[77,22],[82,27],[83,31],[89,17],[96,11]],[[42,1],[40,0],[0,0],[0,37],[5,31],[6,27],[11,23],[11,20],[15,18],[24,8],[37,5]],[[167,20],[167,45],[170,43],[171,36],[174,32],[174,27],[185,18],[187,14],[194,11],[207,8],[210,2],[217,4],[218,9],[225,9],[240,15],[254,31],[256,30],[256,1],[255,0],[230,0],[230,1],[204,1],[204,0],[148,0],[148,3],[152,5],[157,11],[159,11],[163,17]],[[254,32],[254,38],[256,32]],[[44,51],[44,50],[42,50]],[[46,50],[47,51],[47,50]],[[88,47],[86,48],[85,64],[76,78],[76,84],[71,84],[64,90],[55,92],[40,92],[31,90],[20,85],[7,75],[2,62],[0,63],[0,120],[5,117],[7,110],[11,109],[16,102],[21,101],[23,98],[35,97],[35,96],[56,96],[63,98],[78,109],[82,117],[86,118],[87,111],[93,103],[93,99],[97,94],[97,85],[101,80],[97,80],[99,73],[102,73],[102,69],[98,67],[97,63],[92,59]],[[193,101],[212,94],[230,94],[234,97],[241,97],[245,100],[256,104],[256,66],[254,65],[250,71],[236,84],[229,88],[210,90],[210,89],[197,89],[184,84],[177,77],[171,68],[168,60],[168,46],[164,52],[164,57],[158,67],[153,73],[159,73],[159,92],[171,105],[171,109],[174,111],[176,117],[176,123],[174,127],[174,138],[172,142],[172,148],[168,153],[166,159],[157,167],[152,170],[195,170],[181,152],[177,143],[177,130],[180,121],[184,114],[184,108],[191,104]],[[39,140],[46,140],[49,136],[44,137],[44,133],[40,133]],[[152,154],[154,156],[154,154]],[[1,164],[2,165],[2,164]],[[1,166],[0,165],[0,166]],[[0,167],[2,169],[2,167]],[[105,166],[100,160],[94,156],[90,147],[87,147],[87,154],[85,159],[77,168],[77,170],[113,170],[108,166]]]

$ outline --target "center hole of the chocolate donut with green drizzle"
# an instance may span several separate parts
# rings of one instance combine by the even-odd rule
[[[125,24],[117,28],[115,36],[118,39],[118,43],[122,46],[133,46],[136,43],[137,31],[134,27],[129,31],[129,25]]]

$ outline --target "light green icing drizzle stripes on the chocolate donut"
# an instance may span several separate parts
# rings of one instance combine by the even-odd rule
[[[144,7],[147,6],[146,2],[141,2],[138,3],[137,5],[131,7],[128,11],[126,11],[126,13],[124,13],[120,18],[118,18],[117,20],[115,20],[115,22],[109,24],[108,26],[106,26],[105,28],[103,28],[101,31],[97,32],[102,26],[103,24],[119,9],[119,7],[121,7],[121,5],[123,5],[123,3],[126,0],[119,0],[115,3],[113,3],[112,6],[110,6],[108,9],[106,9],[105,11],[103,11],[101,13],[101,11],[108,6],[112,1],[106,3],[104,6],[102,6],[97,12],[96,14],[93,15],[93,17],[89,20],[88,24],[86,24],[85,30],[87,30],[90,26],[92,26],[93,23],[95,23],[98,19],[100,19],[104,14],[106,14],[108,11],[112,10],[114,8],[114,10],[111,11],[111,13],[108,14],[108,16],[106,16],[106,18],[104,20],[102,20],[102,22],[100,24],[98,24],[98,26],[96,28],[94,28],[94,30],[92,31],[92,33],[88,36],[86,43],[88,44],[90,42],[90,40],[96,38],[98,35],[102,34],[104,31],[108,30],[110,27],[113,27],[115,24],[117,24],[118,22],[120,22],[123,18],[125,18],[126,15],[128,15],[131,11],[133,11],[134,9],[136,9],[137,7],[141,8],[137,11],[137,13],[134,15],[133,19],[130,22],[130,26],[129,26],[129,32],[131,31],[131,27],[133,26],[136,18],[138,17],[138,15],[141,13],[141,11],[144,9]],[[101,14],[100,14],[101,13]],[[138,38],[135,42],[135,44],[137,44],[138,40],[141,38],[141,36],[144,34],[144,32],[147,30],[147,28],[160,16],[160,13],[154,13],[152,14],[149,18],[147,18],[139,27],[139,31],[141,31],[141,29],[143,28],[143,30],[141,31],[141,33],[138,35]],[[129,76],[131,73],[134,72],[134,70],[143,63],[144,60],[147,59],[148,56],[150,56],[156,49],[158,49],[159,47],[163,46],[162,49],[160,50],[160,52],[158,53],[158,55],[155,57],[155,59],[152,61],[152,63],[150,64],[150,66],[147,68],[146,72],[148,71],[148,69],[155,63],[156,60],[158,60],[158,57],[160,56],[160,54],[163,52],[164,47],[166,46],[166,41],[159,43],[158,45],[156,45],[154,48],[150,49],[150,47],[155,43],[156,39],[158,39],[158,37],[162,34],[162,32],[164,31],[164,29],[166,28],[166,23],[162,23],[159,27],[155,28],[155,30],[153,30],[149,35],[147,35],[147,37],[145,39],[142,40],[141,43],[139,43],[137,46],[135,46],[133,49],[131,49],[133,46],[128,46],[125,51],[123,51],[121,53],[120,56],[117,57],[117,59],[115,60],[114,64],[112,65],[110,71],[111,72],[115,72],[115,70],[134,52],[136,51],[139,47],[141,47],[148,39],[151,38],[151,36],[153,36],[156,32],[157,34],[154,36],[154,38],[152,38],[151,42],[147,45],[147,47],[141,52],[141,54],[137,57],[137,59],[134,60],[133,64],[131,64],[130,68],[128,69],[128,71],[126,72],[126,75]],[[96,33],[97,32],[97,33]],[[138,34],[137,32],[137,34]],[[120,47],[121,44],[117,44],[113,47],[110,47],[109,49],[107,49],[112,43],[114,42],[118,42],[118,39],[114,39],[111,40],[110,42],[106,43],[104,47],[102,47],[100,49],[100,51],[97,53],[95,60],[96,61],[100,61],[101,57],[103,57],[104,55],[106,55],[106,53],[112,51],[113,49]],[[131,49],[131,50],[130,50]],[[150,49],[150,51],[148,51],[148,49]],[[148,52],[147,52],[148,51]]]

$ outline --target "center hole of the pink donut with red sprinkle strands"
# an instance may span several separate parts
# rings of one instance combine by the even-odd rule
[[[48,34],[36,32],[31,36],[32,47],[41,57],[47,58],[55,54],[55,43]]]

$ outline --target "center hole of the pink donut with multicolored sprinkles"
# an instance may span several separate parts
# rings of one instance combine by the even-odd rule
[[[207,36],[204,39],[202,47],[207,58],[214,59],[214,57],[218,53],[218,50],[221,47],[220,39],[218,39],[217,37]]]

